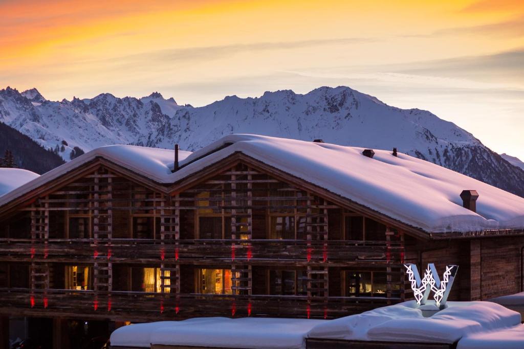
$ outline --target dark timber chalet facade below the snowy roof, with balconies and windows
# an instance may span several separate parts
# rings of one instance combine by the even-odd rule
[[[98,158],[0,207],[0,314],[330,319],[411,298],[407,262],[487,299],[521,290],[523,247],[431,239],[241,153],[170,185]]]

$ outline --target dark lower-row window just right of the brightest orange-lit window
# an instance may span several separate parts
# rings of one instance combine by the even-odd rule
[[[308,275],[304,270],[270,270],[269,294],[304,296],[308,294]]]

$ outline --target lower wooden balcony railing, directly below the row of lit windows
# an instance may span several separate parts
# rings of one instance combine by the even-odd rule
[[[95,296],[94,291],[0,288],[0,313],[25,316],[65,316],[125,321],[160,321],[191,317],[302,317],[337,318],[397,303],[400,298],[265,295],[162,295],[112,291]],[[16,309],[16,310],[14,310]]]

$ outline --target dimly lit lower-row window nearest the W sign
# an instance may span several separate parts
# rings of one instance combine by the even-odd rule
[[[385,272],[346,272],[345,294],[349,297],[386,297]],[[396,285],[398,288],[398,285]]]

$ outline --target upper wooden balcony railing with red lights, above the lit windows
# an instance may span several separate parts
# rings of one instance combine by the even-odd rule
[[[176,243],[175,243],[176,242]],[[286,264],[328,263],[332,266],[368,263],[403,263],[400,242],[307,241],[307,240],[168,240],[112,239],[110,244],[94,239],[49,239],[31,244],[30,239],[0,239],[0,260],[89,262],[96,256],[110,256],[112,262],[231,262],[267,261]]]

